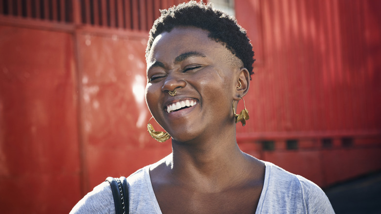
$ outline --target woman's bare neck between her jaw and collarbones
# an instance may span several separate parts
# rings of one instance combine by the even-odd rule
[[[167,163],[182,183],[192,181],[204,188],[217,188],[242,174],[242,168],[236,166],[247,164],[247,158],[238,148],[234,128],[232,133],[219,132],[202,140],[186,143],[173,140],[172,156]]]

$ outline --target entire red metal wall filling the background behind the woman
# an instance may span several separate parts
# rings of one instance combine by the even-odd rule
[[[68,213],[107,176],[169,154],[146,130],[144,54],[158,16],[147,11],[178,1],[110,0],[109,17],[106,1],[53,0],[25,13],[24,1],[7,10],[5,1],[1,212]],[[237,126],[242,150],[322,187],[381,169],[377,8],[377,0],[236,0],[257,59],[245,97],[251,119]]]

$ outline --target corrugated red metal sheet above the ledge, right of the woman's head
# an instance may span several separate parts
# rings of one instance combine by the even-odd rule
[[[257,59],[246,98],[255,121],[241,133],[380,134],[380,1],[237,0],[236,7]]]

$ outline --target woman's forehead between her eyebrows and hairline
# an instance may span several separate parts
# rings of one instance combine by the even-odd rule
[[[223,45],[208,37],[209,31],[196,27],[175,27],[158,35],[148,54],[148,63],[170,60],[185,52],[199,52],[206,56],[226,57],[233,54]]]

